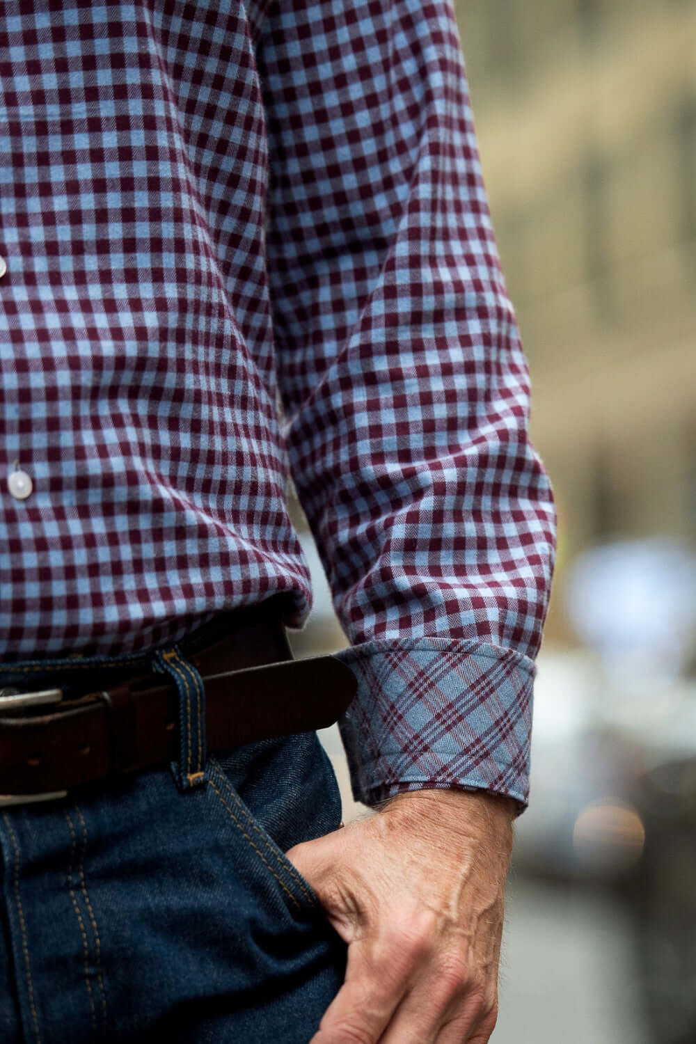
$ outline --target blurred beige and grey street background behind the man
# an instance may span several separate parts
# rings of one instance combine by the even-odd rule
[[[457,17],[559,512],[494,1041],[696,1044],[696,0]]]

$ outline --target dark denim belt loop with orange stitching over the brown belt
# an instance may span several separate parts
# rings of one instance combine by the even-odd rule
[[[176,683],[178,691],[178,762],[171,768],[179,790],[200,786],[206,779],[206,691],[203,680],[178,645],[158,649],[154,670]]]

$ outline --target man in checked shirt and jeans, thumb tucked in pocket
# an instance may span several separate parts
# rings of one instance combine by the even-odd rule
[[[1,15],[3,1040],[482,1044],[554,516],[452,8]]]

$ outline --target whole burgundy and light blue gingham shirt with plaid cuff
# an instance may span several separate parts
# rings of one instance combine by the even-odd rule
[[[356,796],[524,802],[554,513],[449,0],[0,3],[0,654],[309,572]],[[279,421],[282,400],[284,419]]]

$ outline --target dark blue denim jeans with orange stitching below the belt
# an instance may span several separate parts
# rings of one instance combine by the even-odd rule
[[[21,667],[5,666],[0,687]],[[316,1030],[346,948],[284,855],[340,823],[316,733],[209,754],[200,785],[181,775],[1,810],[3,1044],[307,1044]]]

